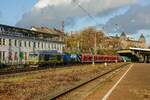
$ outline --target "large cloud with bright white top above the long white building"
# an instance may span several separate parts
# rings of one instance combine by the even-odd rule
[[[100,13],[111,9],[135,4],[136,0],[74,0],[80,4],[89,13],[96,18]],[[80,19],[87,17],[87,14],[81,10],[73,0],[39,0],[31,9],[25,13],[22,19],[17,22],[17,26],[30,27],[51,26],[59,27],[62,20],[65,20],[66,26],[78,25]],[[91,19],[88,19],[91,20]],[[80,26],[78,26],[80,27]]]

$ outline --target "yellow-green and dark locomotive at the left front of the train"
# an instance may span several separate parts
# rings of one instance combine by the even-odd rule
[[[57,50],[41,50],[30,52],[29,65],[45,65],[63,63],[63,55]]]

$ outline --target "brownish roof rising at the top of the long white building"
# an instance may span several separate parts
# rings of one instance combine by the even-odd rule
[[[56,34],[56,35],[60,35],[60,36],[64,35],[64,32],[62,32],[58,29],[55,29],[55,28],[32,26],[31,30],[38,31],[38,32],[43,32],[43,33],[48,33],[48,34]]]

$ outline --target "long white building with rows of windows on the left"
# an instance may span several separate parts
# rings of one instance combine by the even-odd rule
[[[36,50],[63,52],[63,36],[64,33],[56,29],[44,32],[44,28],[43,31],[39,31],[36,28],[28,30],[0,25],[0,63],[25,63],[28,61],[29,53]]]

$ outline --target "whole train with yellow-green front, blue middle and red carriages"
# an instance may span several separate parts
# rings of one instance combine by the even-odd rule
[[[83,64],[83,63],[112,63],[122,62],[119,55],[92,55],[85,53],[60,53],[57,50],[41,50],[30,52],[29,65]]]

